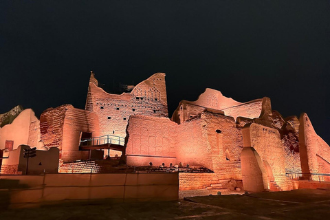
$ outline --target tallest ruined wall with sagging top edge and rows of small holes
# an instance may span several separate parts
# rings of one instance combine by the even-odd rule
[[[100,135],[125,137],[131,115],[168,117],[165,74],[153,74],[130,93],[116,95],[98,87],[98,81],[91,73],[86,110],[98,115]]]

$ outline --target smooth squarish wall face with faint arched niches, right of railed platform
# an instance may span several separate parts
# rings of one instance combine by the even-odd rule
[[[127,126],[127,164],[176,163],[177,124],[168,118],[132,115]]]

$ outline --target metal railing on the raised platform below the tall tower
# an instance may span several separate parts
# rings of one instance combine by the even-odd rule
[[[124,146],[124,137],[119,137],[115,135],[103,135],[100,137],[84,138],[80,140],[79,146],[96,146],[102,144],[118,144]]]

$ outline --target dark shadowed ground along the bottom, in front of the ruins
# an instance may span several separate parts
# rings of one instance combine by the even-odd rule
[[[188,197],[187,201],[63,203],[0,210],[0,219],[329,219],[329,190]]]

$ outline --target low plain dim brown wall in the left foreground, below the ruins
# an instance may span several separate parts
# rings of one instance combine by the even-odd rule
[[[179,195],[178,173],[1,175],[19,179],[27,189],[12,190],[10,203],[116,199],[117,201],[169,201]]]

